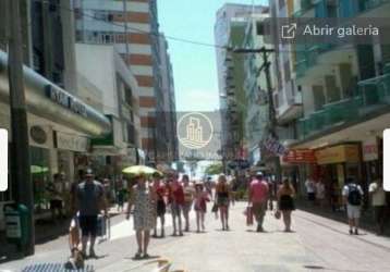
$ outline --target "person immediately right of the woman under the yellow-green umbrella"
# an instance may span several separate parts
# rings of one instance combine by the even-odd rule
[[[166,212],[167,212],[167,205],[166,205],[166,186],[161,183],[160,175],[158,173],[154,174],[154,184],[153,189],[155,191],[155,201],[156,201],[156,226],[154,231],[153,237],[157,238],[157,220],[160,219],[161,224],[161,235],[160,237],[163,238],[166,236],[164,224],[166,224]]]

